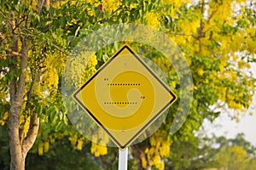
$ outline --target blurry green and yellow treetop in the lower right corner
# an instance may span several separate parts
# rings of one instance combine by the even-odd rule
[[[253,169],[256,148],[239,133],[235,139],[198,135],[172,144],[167,169]]]

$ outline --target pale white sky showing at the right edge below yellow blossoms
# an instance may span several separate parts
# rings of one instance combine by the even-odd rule
[[[256,77],[256,64],[251,65],[253,76]],[[249,115],[253,112],[253,116]],[[214,133],[216,136],[225,136],[226,138],[235,138],[237,133],[244,133],[245,139],[256,146],[256,94],[254,95],[252,105],[247,112],[240,117],[240,122],[235,119],[231,120],[225,113],[221,113],[214,122],[205,121],[202,126],[202,131],[211,136]]]

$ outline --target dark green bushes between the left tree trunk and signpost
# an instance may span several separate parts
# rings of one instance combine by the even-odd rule
[[[26,169],[105,169],[101,160],[90,155],[90,145],[83,150],[70,147],[67,138],[56,140],[43,156],[31,153],[26,160]],[[78,149],[78,148],[77,148]]]

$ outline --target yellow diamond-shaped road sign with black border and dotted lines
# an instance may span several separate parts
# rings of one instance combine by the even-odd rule
[[[177,96],[125,45],[73,94],[73,99],[119,149],[125,149]]]

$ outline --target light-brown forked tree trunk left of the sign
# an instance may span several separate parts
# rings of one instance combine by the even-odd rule
[[[26,138],[24,139],[23,130],[20,129],[20,112],[21,105],[24,101],[26,87],[26,69],[27,69],[27,54],[29,49],[29,37],[18,37],[15,33],[15,13],[10,12],[10,37],[12,38],[12,51],[18,52],[18,40],[21,41],[20,50],[20,65],[17,63],[9,66],[9,71],[17,71],[20,69],[19,77],[14,77],[9,84],[10,93],[10,109],[9,109],[9,147],[10,147],[10,169],[24,170],[25,160],[28,150],[32,148],[35,139],[38,135],[39,119],[37,113],[32,114],[30,127]],[[17,56],[13,55],[12,59],[18,61]],[[36,81],[36,80],[34,80]],[[34,83],[32,83],[34,84]],[[33,88],[31,88],[33,89]],[[32,92],[30,92],[32,93]],[[28,99],[26,100],[28,102]],[[27,105],[27,103],[26,103]]]

